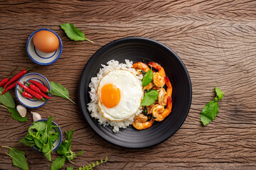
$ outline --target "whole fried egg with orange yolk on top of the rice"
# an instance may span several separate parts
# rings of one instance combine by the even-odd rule
[[[142,81],[127,70],[114,70],[102,77],[97,95],[105,118],[125,120],[139,109],[143,96]]]

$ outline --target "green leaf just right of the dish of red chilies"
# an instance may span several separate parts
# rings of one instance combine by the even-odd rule
[[[68,90],[65,89],[65,87],[63,87],[61,84],[58,84],[58,83],[55,83],[55,82],[50,82],[50,88],[51,88],[51,94],[53,96],[59,96],[59,97],[62,97],[62,98],[66,98],[66,99],[68,99],[69,101],[71,101],[72,103],[75,104],[75,102],[72,101],[69,98]]]

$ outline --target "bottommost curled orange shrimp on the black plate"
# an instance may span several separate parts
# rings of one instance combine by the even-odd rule
[[[148,120],[148,117],[141,113],[134,117],[134,122],[132,123],[132,125],[137,130],[144,130],[144,129],[151,127],[151,125],[153,125],[153,123],[154,123],[154,119],[151,119],[149,121],[147,121],[147,120]]]

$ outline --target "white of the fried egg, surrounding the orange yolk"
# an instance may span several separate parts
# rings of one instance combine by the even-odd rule
[[[100,101],[100,91],[105,84],[113,84],[120,90],[120,101],[113,108],[105,107]],[[127,70],[114,70],[102,77],[97,94],[102,115],[109,120],[122,121],[137,113],[143,97],[142,81]]]

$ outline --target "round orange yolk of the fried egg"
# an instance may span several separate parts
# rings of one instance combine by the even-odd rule
[[[107,108],[114,108],[117,106],[121,98],[120,90],[117,86],[113,84],[106,84],[102,86],[100,91],[100,101],[106,106]]]

